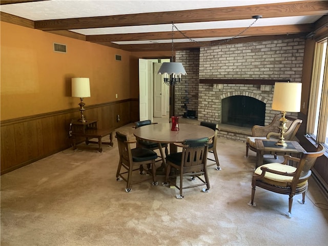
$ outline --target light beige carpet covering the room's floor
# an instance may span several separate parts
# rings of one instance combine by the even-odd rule
[[[133,138],[131,124],[118,131]],[[126,193],[115,138],[103,153],[67,149],[5,174],[1,245],[328,245],[328,213],[318,208],[327,201],[314,180],[305,205],[295,196],[292,218],[288,196],[260,188],[249,207],[255,153],[244,158],[245,144],[224,138],[217,151],[222,171],[209,168],[210,192],[187,189],[184,199],[151,181]]]

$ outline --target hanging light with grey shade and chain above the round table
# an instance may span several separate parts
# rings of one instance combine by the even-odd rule
[[[168,86],[175,86],[176,84],[181,82],[181,74],[187,75],[185,68],[183,68],[182,63],[174,63],[173,62],[173,27],[172,23],[172,57],[170,63],[162,63],[157,74],[164,75],[164,83]]]

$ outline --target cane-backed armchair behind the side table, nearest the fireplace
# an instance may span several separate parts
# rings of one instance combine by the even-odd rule
[[[280,137],[280,133],[279,133],[280,121],[279,121],[279,119],[280,118],[281,118],[281,114],[277,114],[268,126],[255,125],[252,127],[252,136],[247,137],[247,139],[246,139],[246,155],[245,155],[245,157],[248,158],[249,149],[257,152],[255,138],[277,139],[277,140],[279,139],[279,137]],[[285,133],[283,134],[284,139],[285,140],[293,140],[301,123],[302,123],[301,119],[288,120],[286,122],[286,127],[288,128],[288,130],[285,131]],[[276,154],[274,154],[274,158],[277,159]]]

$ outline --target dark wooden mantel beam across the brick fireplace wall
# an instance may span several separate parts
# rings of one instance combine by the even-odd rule
[[[272,85],[276,82],[289,82],[290,79],[243,79],[243,78],[200,78],[199,84],[237,84],[237,85]]]

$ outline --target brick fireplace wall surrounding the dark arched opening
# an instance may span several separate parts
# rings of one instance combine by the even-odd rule
[[[183,115],[188,108],[196,111],[198,120],[222,124],[222,100],[247,96],[264,103],[264,124],[270,124],[279,113],[271,109],[273,81],[301,82],[304,43],[304,39],[290,38],[177,51],[176,61],[188,75],[175,86],[175,115]],[[238,79],[248,83],[233,84]]]

